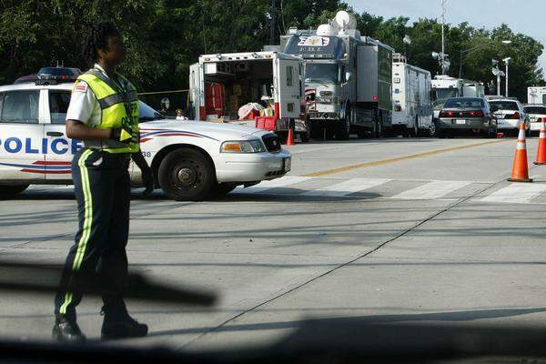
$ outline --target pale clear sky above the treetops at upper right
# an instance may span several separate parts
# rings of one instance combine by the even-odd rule
[[[357,13],[364,11],[384,18],[408,16],[440,19],[440,0],[345,0]],[[448,0],[446,21],[492,29],[506,23],[514,33],[531,35],[546,45],[546,0]],[[540,58],[546,71],[546,53]]]

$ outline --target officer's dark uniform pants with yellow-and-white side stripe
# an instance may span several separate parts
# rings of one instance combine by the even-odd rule
[[[128,155],[93,149],[82,149],[74,157],[79,228],[55,298],[56,314],[76,321],[76,306],[82,298],[78,288],[91,283],[104,292],[106,307],[123,305],[131,194],[128,166]],[[90,275],[98,279],[92,282]]]

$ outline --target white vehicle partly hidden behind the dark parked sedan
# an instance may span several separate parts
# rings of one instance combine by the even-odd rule
[[[440,110],[450,97],[484,97],[485,86],[481,82],[447,75],[437,75],[432,79],[435,91],[434,120],[438,120]]]

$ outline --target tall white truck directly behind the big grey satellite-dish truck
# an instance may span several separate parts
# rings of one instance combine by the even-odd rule
[[[408,65],[397,53],[392,62],[392,129],[403,136],[432,136],[430,71]]]

